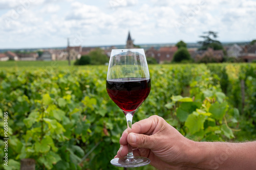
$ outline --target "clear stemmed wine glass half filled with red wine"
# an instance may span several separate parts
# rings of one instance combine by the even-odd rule
[[[143,49],[112,50],[106,77],[106,91],[113,102],[123,111],[128,133],[136,109],[144,102],[151,90],[150,72]],[[150,163],[150,159],[129,153],[125,158],[115,158],[111,164],[120,167],[138,167]]]

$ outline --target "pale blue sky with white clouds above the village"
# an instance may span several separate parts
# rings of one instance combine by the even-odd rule
[[[0,0],[0,49],[256,39],[256,0]]]

